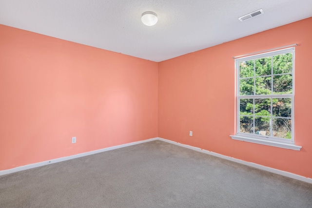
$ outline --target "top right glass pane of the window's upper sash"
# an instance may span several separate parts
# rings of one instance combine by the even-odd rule
[[[292,73],[292,53],[273,57],[273,74]]]

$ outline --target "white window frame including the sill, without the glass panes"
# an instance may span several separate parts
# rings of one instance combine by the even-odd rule
[[[239,89],[240,89],[240,76],[239,76],[239,63],[242,61],[248,61],[248,60],[254,60],[264,57],[273,57],[276,55],[286,54],[286,53],[292,53],[292,94],[280,94],[280,95],[274,95],[273,90],[271,95],[239,95]],[[294,47],[292,48],[286,48],[276,51],[271,51],[267,53],[257,54],[253,56],[248,57],[241,57],[235,59],[235,70],[236,70],[236,135],[231,135],[232,139],[235,140],[241,140],[246,142],[252,142],[262,145],[269,145],[273,147],[279,147],[279,148],[286,148],[291,150],[297,150],[299,151],[301,149],[301,146],[297,146],[294,143]],[[255,67],[255,66],[254,66]],[[289,73],[288,73],[289,74]],[[279,75],[279,74],[278,74]],[[280,74],[284,75],[284,74]],[[274,75],[276,76],[276,75]],[[253,76],[256,77],[255,74]],[[271,73],[271,80],[273,82],[273,64],[272,64],[272,73]],[[272,85],[273,88],[273,85]],[[254,89],[255,90],[255,89]],[[278,138],[273,136],[264,136],[264,135],[258,135],[258,134],[251,134],[251,133],[243,133],[239,132],[239,125],[240,125],[240,99],[255,99],[255,98],[291,98],[292,99],[292,113],[291,113],[291,120],[292,120],[292,139],[284,139],[284,138]],[[271,103],[272,108],[272,103]],[[273,118],[272,111],[271,111],[271,119]]]

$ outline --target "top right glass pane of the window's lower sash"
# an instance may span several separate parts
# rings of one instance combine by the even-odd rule
[[[292,98],[273,98],[273,116],[292,117]]]

